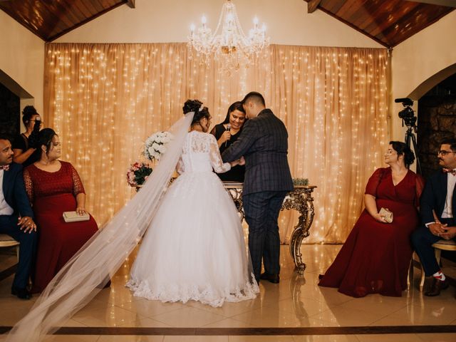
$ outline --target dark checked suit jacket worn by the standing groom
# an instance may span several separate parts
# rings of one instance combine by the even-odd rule
[[[224,162],[244,156],[244,195],[262,191],[291,191],[293,180],[287,159],[288,133],[270,109],[244,123],[242,133],[222,154]]]

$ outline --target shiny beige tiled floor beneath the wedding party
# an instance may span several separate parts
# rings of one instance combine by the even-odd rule
[[[222,308],[212,308],[191,301],[161,303],[133,297],[125,288],[130,264],[134,255],[125,262],[113,278],[110,289],[104,289],[70,321],[68,327],[141,327],[141,328],[257,328],[261,336],[113,336],[60,335],[49,341],[456,341],[456,333],[414,333],[415,326],[456,325],[455,289],[444,291],[441,296],[427,298],[418,291],[419,272],[415,272],[413,289],[400,298],[370,295],[353,299],[336,289],[317,286],[318,274],[331,264],[340,246],[304,245],[301,248],[307,264],[304,277],[294,272],[288,246],[281,250],[281,282],[260,284],[257,299],[237,304],[226,303]],[[0,269],[14,264],[15,256],[0,254]],[[454,272],[455,266],[445,270]],[[12,276],[0,281],[0,326],[11,326],[31,307],[33,301],[20,301],[9,294]],[[410,333],[358,333],[348,335],[310,334],[299,336],[284,330],[283,336],[267,336],[265,328],[333,329],[338,327],[410,326]],[[152,331],[152,330],[151,330]],[[170,331],[170,330],[167,330]],[[251,330],[252,331],[252,330]],[[324,331],[324,330],[323,330]],[[366,331],[365,331],[366,332]],[[388,331],[386,331],[388,332]],[[277,332],[275,332],[277,333]],[[3,340],[0,336],[0,341]]]

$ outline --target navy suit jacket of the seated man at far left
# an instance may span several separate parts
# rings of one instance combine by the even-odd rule
[[[12,162],[9,170],[3,173],[3,194],[6,203],[14,210],[14,215],[33,217],[33,210],[28,201],[22,165]]]

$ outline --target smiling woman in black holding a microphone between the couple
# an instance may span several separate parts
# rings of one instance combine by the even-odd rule
[[[223,153],[233,142],[241,135],[242,127],[244,126],[246,117],[245,110],[242,107],[242,102],[237,101],[232,103],[228,108],[227,117],[222,123],[215,125],[211,134],[217,139],[220,154]],[[244,165],[236,165],[231,170],[224,173],[217,173],[221,180],[229,180],[232,182],[244,182]]]

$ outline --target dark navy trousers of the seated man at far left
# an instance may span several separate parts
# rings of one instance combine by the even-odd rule
[[[36,232],[24,233],[17,225],[18,217],[14,215],[0,215],[0,233],[8,234],[10,237],[19,241],[19,264],[16,276],[14,276],[13,286],[25,289],[28,285],[33,258],[36,249]]]

